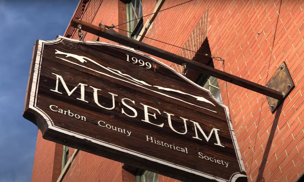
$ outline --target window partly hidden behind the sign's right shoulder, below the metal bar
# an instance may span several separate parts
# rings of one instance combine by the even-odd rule
[[[210,61],[208,66],[214,68],[213,62]],[[219,83],[217,82],[217,79],[215,77],[202,74],[196,83],[210,90],[215,99],[218,100],[220,103],[223,103],[221,92],[219,90]]]

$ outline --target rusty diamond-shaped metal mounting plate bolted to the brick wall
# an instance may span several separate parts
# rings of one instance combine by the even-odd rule
[[[268,88],[277,90],[283,93],[284,98],[282,100],[277,100],[267,96],[268,105],[270,107],[271,113],[274,113],[275,110],[280,106],[280,104],[285,100],[288,94],[295,88],[295,84],[292,81],[286,63],[283,62],[275,74],[270,78],[266,84]]]

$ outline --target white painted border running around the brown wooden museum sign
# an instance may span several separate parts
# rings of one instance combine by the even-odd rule
[[[189,173],[196,174],[196,175],[199,175],[199,176],[202,176],[202,177],[206,177],[206,178],[209,178],[209,179],[213,179],[213,180],[216,180],[216,181],[219,181],[219,182],[227,181],[227,180],[225,180],[223,178],[214,177],[214,176],[211,176],[209,174],[202,173],[200,171],[196,171],[196,170],[193,170],[193,169],[190,169],[190,168],[187,168],[187,167],[180,166],[178,164],[174,164],[174,163],[170,163],[168,161],[157,159],[155,157],[147,156],[145,154],[141,154],[141,153],[138,153],[136,151],[132,151],[132,150],[129,150],[129,149],[125,149],[123,147],[119,147],[119,146],[116,146],[116,145],[113,145],[113,144],[109,144],[109,143],[106,143],[104,141],[99,141],[99,140],[96,140],[94,138],[90,138],[90,137],[88,138],[87,136],[86,137],[85,136],[81,136],[80,134],[72,133],[71,131],[67,131],[67,130],[64,130],[64,129],[60,128],[60,127],[54,126],[54,123],[53,123],[52,119],[43,110],[41,110],[40,108],[38,108],[36,106],[36,99],[37,99],[36,96],[37,96],[37,91],[38,91],[38,86],[39,86],[40,63],[41,63],[42,53],[43,53],[43,44],[57,44],[57,43],[60,43],[62,40],[68,40],[68,41],[71,41],[71,42],[86,43],[86,44],[110,45],[110,46],[115,46],[115,47],[119,47],[119,48],[122,48],[122,49],[127,49],[127,50],[132,51],[132,52],[134,52],[136,54],[145,56],[148,59],[152,59],[155,62],[158,62],[159,64],[161,64],[161,65],[165,66],[166,68],[170,69],[172,72],[174,72],[175,74],[177,74],[178,76],[180,76],[182,79],[185,79],[186,81],[188,81],[192,85],[198,87],[199,89],[207,91],[209,93],[209,95],[211,96],[211,98],[217,104],[219,104],[220,106],[224,107],[224,109],[225,109],[226,119],[227,119],[228,125],[230,127],[229,128],[230,129],[230,135],[231,135],[231,137],[233,139],[233,145],[234,145],[234,149],[235,149],[235,152],[236,152],[236,155],[237,155],[237,161],[238,161],[239,166],[240,166],[240,172],[237,172],[237,173],[233,174],[230,177],[230,181],[234,182],[239,177],[247,177],[246,175],[244,175],[244,174],[246,174],[245,167],[244,167],[244,163],[242,161],[240,149],[239,149],[238,144],[237,144],[237,139],[236,139],[236,136],[235,136],[235,133],[234,133],[234,130],[233,130],[233,126],[232,126],[232,122],[231,122],[231,119],[230,119],[230,112],[229,112],[228,106],[226,106],[226,105],[220,103],[218,100],[216,100],[215,97],[212,95],[212,93],[208,89],[203,88],[202,86],[197,85],[196,83],[194,83],[190,79],[186,78],[185,76],[182,76],[180,73],[176,72],[170,66],[164,64],[163,62],[161,62],[161,61],[159,61],[159,60],[157,60],[157,59],[155,59],[155,58],[153,58],[151,56],[148,56],[148,55],[146,55],[146,54],[144,54],[142,52],[138,52],[138,51],[136,51],[136,50],[134,50],[132,48],[129,48],[129,47],[126,47],[126,46],[123,46],[123,45],[116,45],[116,44],[108,43],[108,42],[79,41],[79,40],[76,40],[76,39],[69,39],[69,38],[66,38],[66,37],[63,37],[63,36],[60,36],[60,35],[58,35],[56,37],[56,39],[54,39],[54,40],[49,40],[49,41],[37,40],[36,41],[36,44],[38,43],[37,50],[36,50],[37,53],[35,53],[35,52],[33,53],[33,56],[36,55],[36,59],[32,60],[34,62],[34,63],[32,62],[32,65],[33,64],[35,65],[34,66],[34,70],[33,70],[34,72],[29,75],[29,79],[33,75],[33,80],[32,80],[32,85],[31,85],[31,88],[30,88],[31,90],[29,90],[29,87],[28,87],[28,90],[27,90],[27,92],[30,91],[29,93],[27,93],[27,96],[29,95],[29,106],[28,106],[28,109],[31,109],[31,110],[35,111],[35,112],[32,112],[32,114],[36,114],[36,113],[39,114],[47,122],[48,129],[55,130],[55,131],[58,131],[58,132],[62,132],[62,133],[65,133],[67,135],[77,137],[79,139],[89,140],[92,143],[96,143],[96,144],[102,143],[102,144],[100,144],[102,146],[109,147],[109,148],[112,148],[112,149],[115,149],[115,150],[119,150],[121,152],[126,152],[126,153],[129,153],[131,155],[135,155],[137,157],[141,157],[143,159],[147,159],[147,160],[150,160],[150,161],[158,162],[158,163],[161,163],[163,165],[167,165],[167,166],[179,169],[179,170],[184,170],[184,171],[187,171]],[[36,82],[34,82],[34,80]],[[25,108],[26,108],[26,106],[25,106]],[[26,113],[26,110],[24,110],[24,113]],[[136,154],[138,154],[138,155],[136,155]]]

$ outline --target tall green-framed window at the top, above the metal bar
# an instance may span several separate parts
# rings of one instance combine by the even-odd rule
[[[127,24],[128,37],[136,39],[141,29],[143,29],[143,6],[141,0],[131,0],[127,3],[126,12],[127,22],[134,20]]]

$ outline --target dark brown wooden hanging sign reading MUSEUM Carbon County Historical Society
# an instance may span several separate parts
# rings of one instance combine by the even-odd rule
[[[23,116],[43,138],[184,181],[247,181],[226,106],[154,58],[35,44]]]

